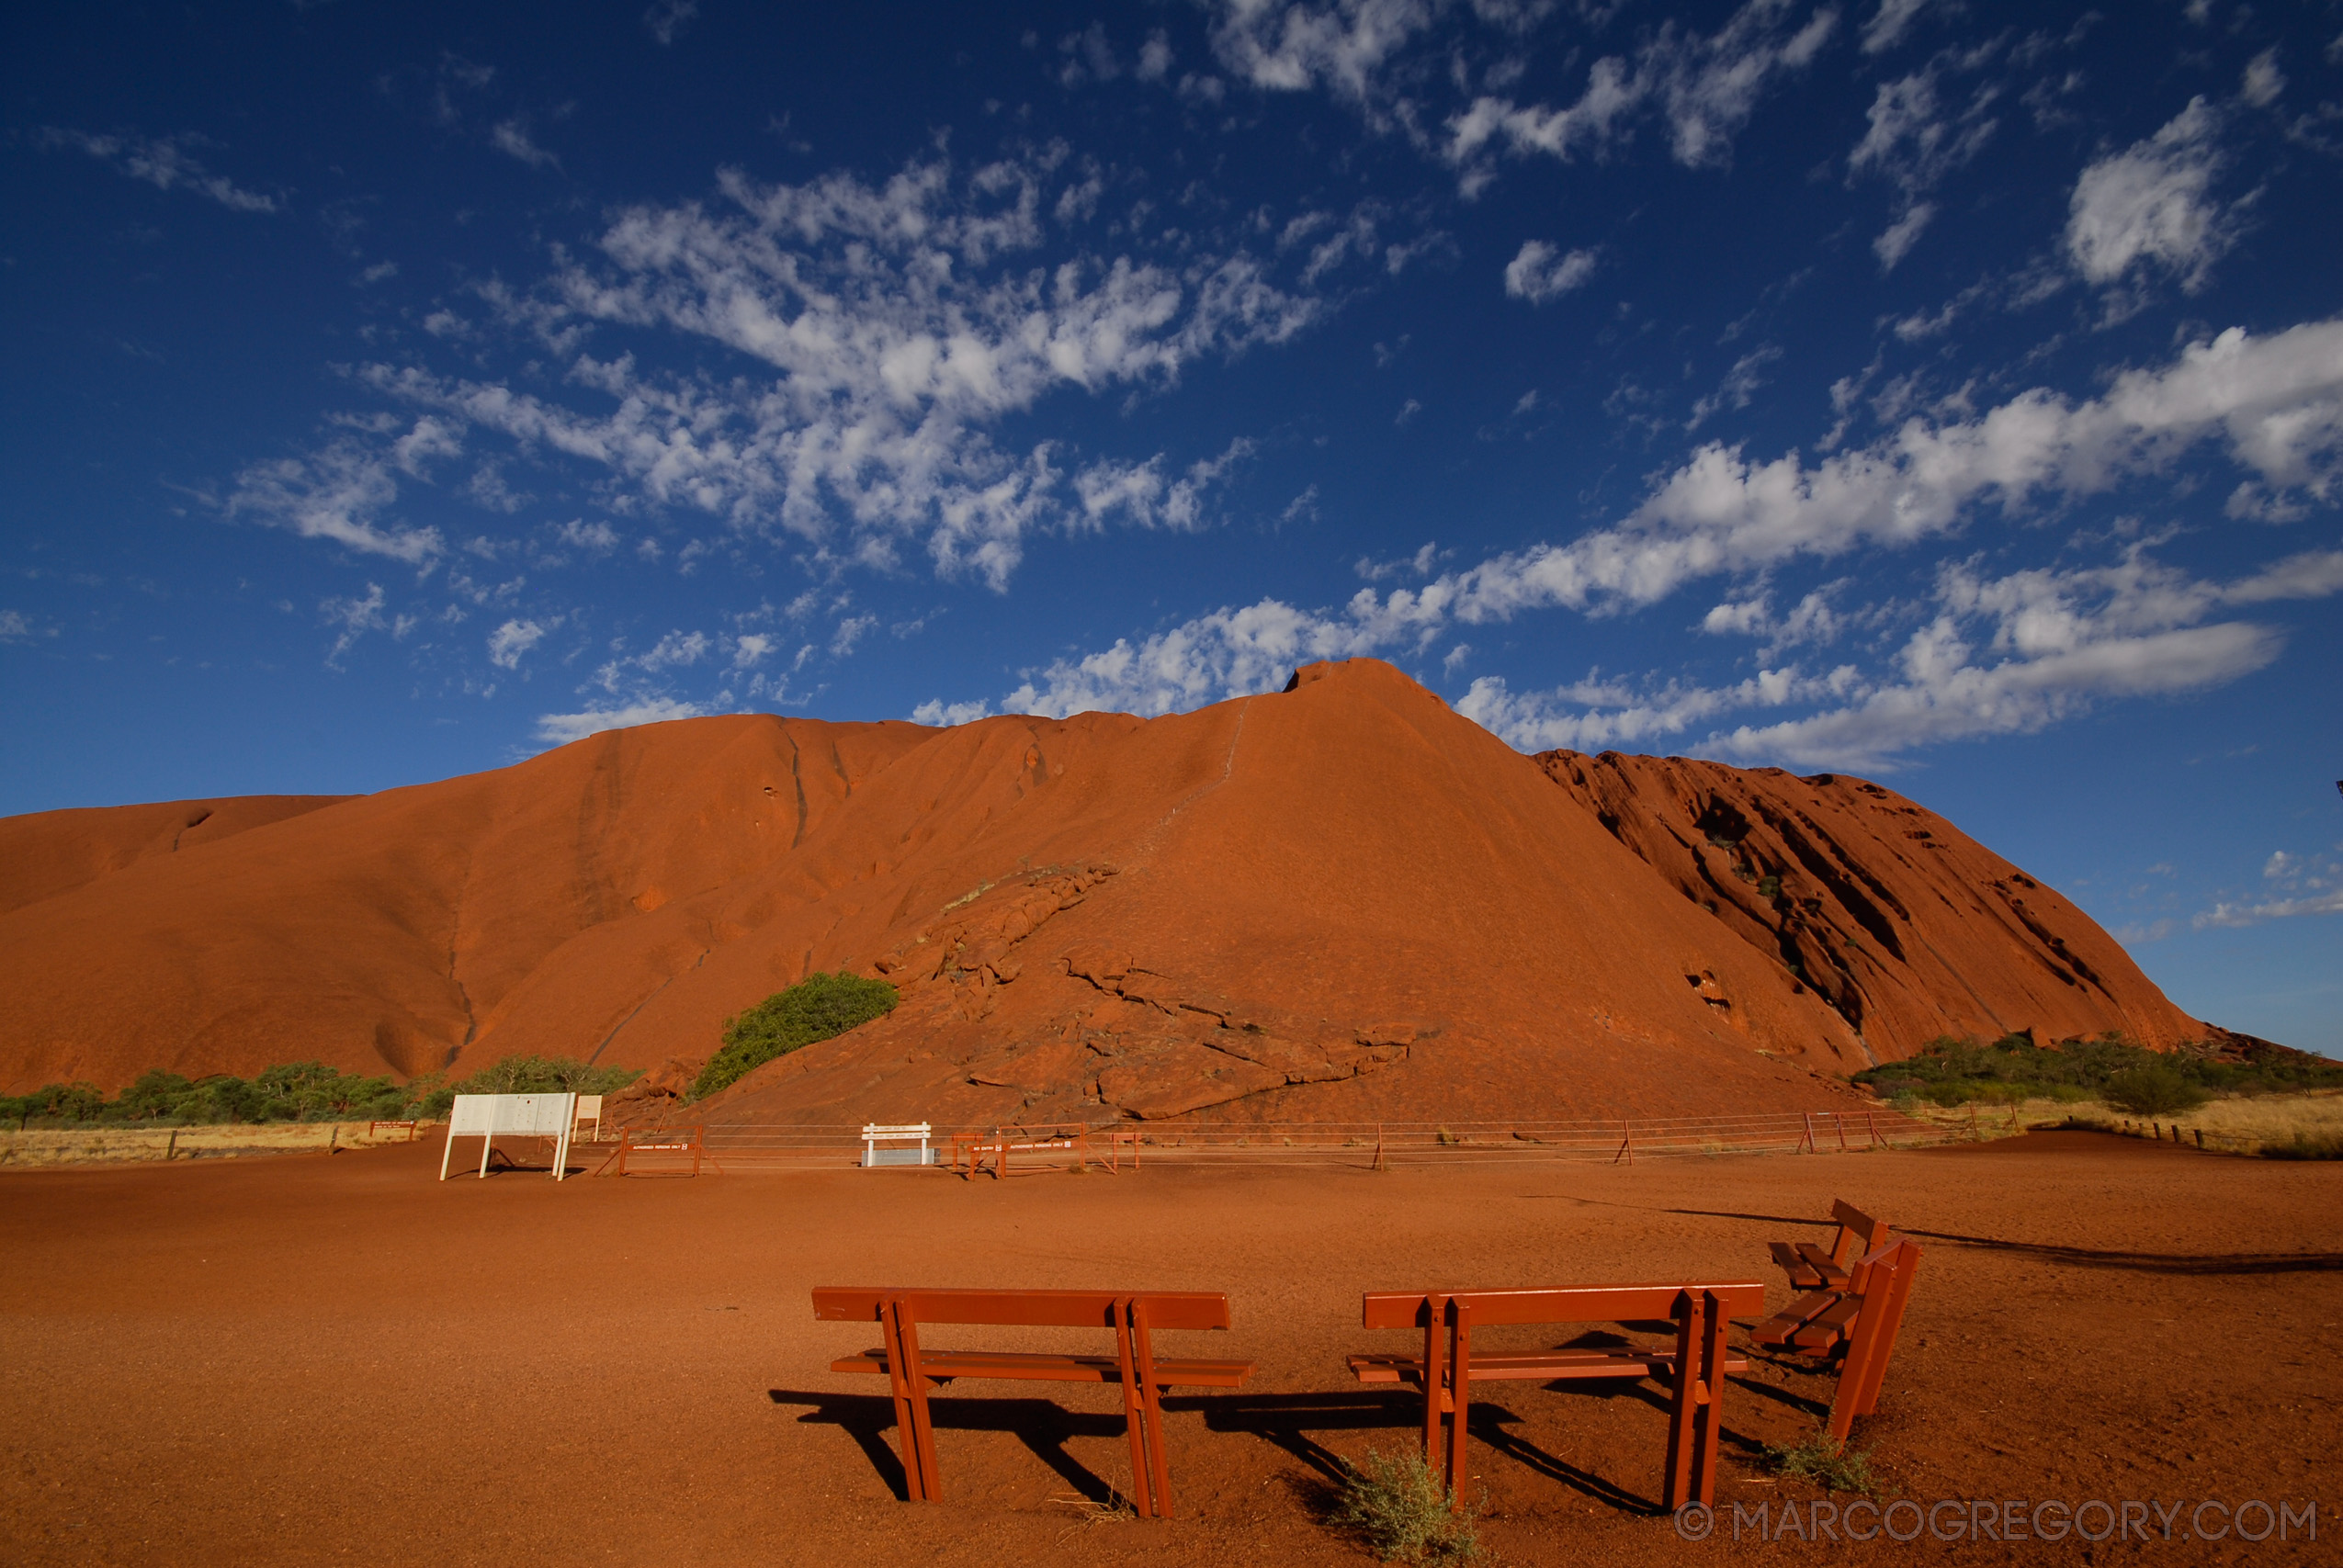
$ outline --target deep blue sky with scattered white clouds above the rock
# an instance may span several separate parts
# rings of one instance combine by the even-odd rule
[[[2343,5],[12,12],[0,811],[1375,654],[2343,1052]]]

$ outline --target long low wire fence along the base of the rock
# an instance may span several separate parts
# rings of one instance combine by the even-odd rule
[[[933,1125],[935,1163],[949,1167],[954,1137],[1007,1139],[1015,1163],[1026,1170],[1071,1165],[1082,1151],[1043,1148],[1052,1134],[1068,1134],[1078,1123],[984,1123]],[[1589,1163],[1633,1165],[1638,1160],[1678,1160],[1729,1153],[1863,1153],[1872,1148],[1926,1148],[1968,1141],[1963,1127],[1912,1120],[1895,1111],[1790,1111],[1767,1116],[1675,1116],[1675,1118],[1600,1118],[1600,1120],[1509,1120],[1509,1123],[1211,1123],[1211,1120],[1097,1120],[1082,1125],[1089,1134],[1089,1163],[1108,1160],[1108,1132],[1136,1134],[1141,1167],[1176,1165],[1261,1165],[1261,1167],[1347,1167],[1389,1170],[1396,1165],[1500,1165],[1500,1163]],[[883,1148],[902,1148],[890,1141]],[[1129,1144],[1125,1141],[1125,1148]],[[860,1123],[710,1123],[708,1151],[724,1170],[841,1167],[862,1163]]]

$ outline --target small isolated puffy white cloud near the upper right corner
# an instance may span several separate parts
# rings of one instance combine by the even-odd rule
[[[2205,98],[2156,136],[2104,157],[2074,185],[2067,253],[2092,284],[2116,284],[2158,263],[2195,293],[2233,241],[2228,211],[2212,199],[2221,169],[2219,117]]]

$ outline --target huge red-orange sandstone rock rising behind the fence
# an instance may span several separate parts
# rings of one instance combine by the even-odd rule
[[[525,1052],[672,1080],[815,968],[904,1005],[717,1116],[1788,1111],[1938,1034],[2219,1036],[1888,790],[1523,757],[1368,659],[1150,722],[689,720],[344,802],[0,827],[16,1092]]]

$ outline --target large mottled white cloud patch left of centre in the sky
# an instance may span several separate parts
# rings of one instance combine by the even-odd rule
[[[991,424],[1057,389],[1169,387],[1200,356],[1284,342],[1328,309],[1242,248],[1024,265],[1047,237],[1059,162],[925,162],[883,185],[724,171],[722,209],[621,211],[600,260],[569,260],[530,293],[483,291],[562,356],[579,398],[415,366],[358,380],[527,452],[607,466],[654,506],[787,530],[874,567],[918,541],[940,572],[998,588],[1031,530],[1094,513],[1066,511],[1050,441],[1005,452]],[[771,375],[647,373],[630,354],[583,354],[595,328],[665,328]],[[1160,483],[1169,504],[1179,480]]]

